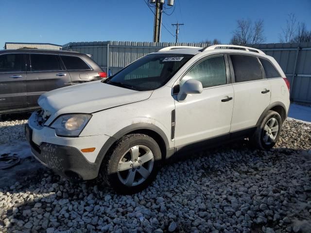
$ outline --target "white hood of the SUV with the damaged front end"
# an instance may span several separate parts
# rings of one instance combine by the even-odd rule
[[[147,100],[153,91],[135,91],[101,81],[76,84],[40,96],[38,104],[51,115],[94,113],[107,108]]]

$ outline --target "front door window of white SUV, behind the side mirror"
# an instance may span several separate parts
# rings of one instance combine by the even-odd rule
[[[203,88],[226,84],[224,56],[213,56],[198,63],[183,77],[180,85],[189,79],[200,81]]]

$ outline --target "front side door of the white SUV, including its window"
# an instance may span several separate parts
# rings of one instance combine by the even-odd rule
[[[224,54],[205,57],[195,63],[179,82],[180,88],[189,79],[202,83],[201,94],[175,99],[175,147],[228,136],[233,111],[233,87]]]

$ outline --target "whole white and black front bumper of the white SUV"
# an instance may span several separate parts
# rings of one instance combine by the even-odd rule
[[[38,124],[37,112],[25,125],[25,136],[39,162],[71,181],[91,180],[98,176],[104,156],[102,148],[108,139],[111,140],[105,134],[59,137],[54,129]],[[92,147],[96,148],[93,152],[81,151]]]

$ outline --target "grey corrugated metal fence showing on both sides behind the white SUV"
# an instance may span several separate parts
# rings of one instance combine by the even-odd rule
[[[108,45],[109,54],[107,54]],[[108,57],[109,69],[114,74],[138,58],[168,46],[206,47],[207,44],[124,41],[70,42],[63,45],[63,50],[92,54],[93,60],[104,70],[107,68]],[[292,100],[311,102],[311,43],[259,44],[250,45],[250,47],[263,50],[280,64],[291,83]]]

